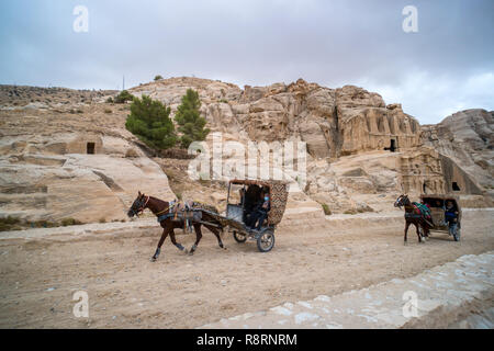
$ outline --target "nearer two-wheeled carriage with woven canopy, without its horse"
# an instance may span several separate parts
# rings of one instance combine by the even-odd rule
[[[269,193],[270,211],[268,218],[259,230],[246,225],[252,205],[262,192]],[[283,218],[289,193],[289,183],[276,180],[232,180],[228,183],[225,216],[211,214],[223,227],[228,227],[237,242],[256,240],[261,252],[274,247],[276,226]]]

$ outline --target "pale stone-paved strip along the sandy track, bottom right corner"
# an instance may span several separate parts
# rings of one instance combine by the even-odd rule
[[[221,319],[213,329],[494,328],[494,251],[407,279]],[[478,313],[482,314],[479,316]]]

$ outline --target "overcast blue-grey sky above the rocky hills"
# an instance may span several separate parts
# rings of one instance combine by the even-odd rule
[[[74,30],[77,5],[88,32]],[[416,33],[403,31],[406,5],[417,9]],[[1,0],[0,43],[3,84],[303,78],[377,91],[423,124],[494,110],[492,0]]]

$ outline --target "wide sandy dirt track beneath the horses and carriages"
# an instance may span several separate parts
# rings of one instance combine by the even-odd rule
[[[463,254],[494,249],[494,211],[465,211],[462,241],[435,234],[403,245],[403,217],[346,217],[277,231],[257,251],[225,233],[227,250],[205,230],[193,257],[167,239],[149,258],[159,229],[0,239],[0,328],[192,328],[285,302],[312,299],[409,278]],[[308,228],[308,229],[306,229]],[[1,234],[0,234],[1,236]],[[187,247],[192,235],[178,236]],[[72,294],[89,295],[76,318]]]

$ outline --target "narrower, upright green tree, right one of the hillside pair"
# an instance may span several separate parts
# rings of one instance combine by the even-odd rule
[[[201,116],[200,107],[199,93],[188,89],[182,97],[182,104],[178,106],[175,115],[175,121],[179,125],[178,131],[182,133],[180,145],[186,149],[192,141],[204,140],[210,133],[209,128],[204,128],[206,120]]]

